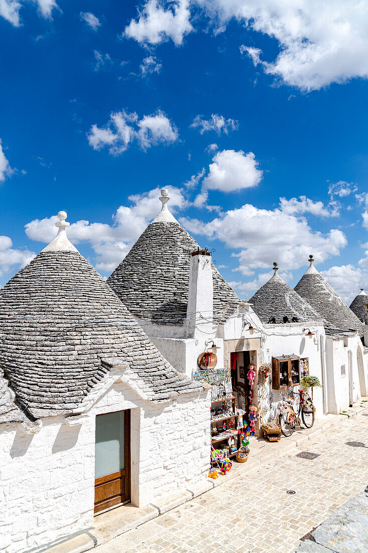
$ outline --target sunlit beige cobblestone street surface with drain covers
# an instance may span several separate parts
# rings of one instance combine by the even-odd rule
[[[367,486],[368,447],[346,445],[353,441],[368,445],[368,416],[346,420],[95,551],[289,553]],[[305,460],[296,457],[300,451],[320,456]]]

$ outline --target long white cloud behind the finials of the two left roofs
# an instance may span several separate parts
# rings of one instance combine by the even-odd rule
[[[189,205],[182,189],[167,186],[167,190],[172,212],[175,213],[176,210],[182,210]],[[159,188],[146,194],[129,196],[132,205],[120,206],[112,216],[112,225],[81,220],[70,225],[67,236],[73,244],[89,244],[96,254],[96,269],[111,272],[129,252],[149,222],[159,213],[159,197]],[[35,219],[25,225],[25,233],[32,240],[49,243],[55,238],[56,221],[56,216]]]

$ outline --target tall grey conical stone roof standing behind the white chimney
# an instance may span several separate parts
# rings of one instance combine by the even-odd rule
[[[167,209],[167,191],[161,194],[161,212],[107,282],[133,315],[157,324],[182,325],[187,315],[190,256],[199,246]],[[213,320],[220,324],[240,300],[214,265],[212,274]]]

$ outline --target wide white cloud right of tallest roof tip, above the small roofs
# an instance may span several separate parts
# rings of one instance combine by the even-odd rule
[[[188,218],[181,223],[191,232],[218,239],[233,250],[240,249],[232,255],[238,258],[237,270],[246,276],[254,274],[255,269],[269,268],[275,260],[284,271],[297,269],[306,264],[311,252],[320,263],[338,255],[347,243],[338,229],[323,234],[313,231],[304,217],[251,204],[227,211],[207,223]]]

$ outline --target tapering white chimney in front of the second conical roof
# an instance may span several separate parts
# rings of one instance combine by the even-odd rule
[[[186,320],[187,338],[211,338],[213,331],[213,279],[212,257],[204,249],[191,255],[188,307]]]

